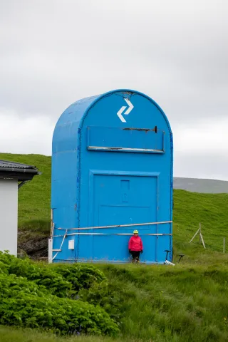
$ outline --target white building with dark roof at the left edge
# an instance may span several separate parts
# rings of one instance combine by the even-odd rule
[[[0,251],[17,255],[18,190],[40,172],[36,167],[0,160]]]

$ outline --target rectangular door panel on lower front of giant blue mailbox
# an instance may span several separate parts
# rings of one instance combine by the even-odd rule
[[[140,175],[94,175],[93,227],[156,222],[157,177]],[[109,261],[129,260],[128,241],[133,230],[138,229],[144,244],[142,259],[156,260],[157,225],[112,227],[93,229],[93,257]],[[115,235],[131,234],[131,235]]]

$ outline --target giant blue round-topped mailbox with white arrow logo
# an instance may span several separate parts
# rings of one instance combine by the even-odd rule
[[[53,134],[53,249],[61,249],[53,261],[128,262],[135,226],[88,227],[172,221],[172,148],[165,113],[137,91],[115,90],[67,108]],[[136,228],[142,261],[165,261],[172,223]]]

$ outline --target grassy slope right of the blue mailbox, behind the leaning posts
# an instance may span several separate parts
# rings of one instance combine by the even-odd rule
[[[191,245],[189,242],[200,222],[207,249],[222,252],[223,237],[227,237],[228,242],[228,194],[176,190],[174,206],[174,244],[177,249],[190,250],[199,244],[199,237]]]

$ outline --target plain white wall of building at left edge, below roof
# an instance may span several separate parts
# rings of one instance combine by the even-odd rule
[[[18,182],[0,180],[0,251],[17,255]]]

